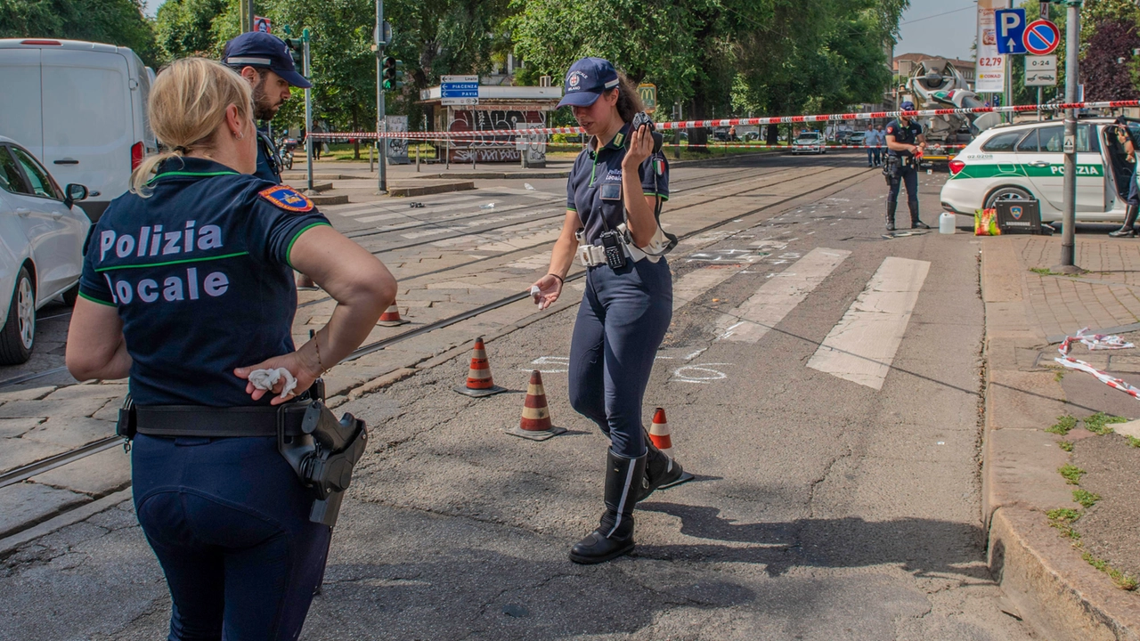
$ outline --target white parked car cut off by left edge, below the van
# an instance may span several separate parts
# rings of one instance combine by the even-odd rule
[[[35,310],[79,295],[91,221],[75,205],[87,187],[60,188],[23,146],[0,136],[0,365],[27,362]]]

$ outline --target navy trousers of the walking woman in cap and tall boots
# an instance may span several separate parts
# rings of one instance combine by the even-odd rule
[[[671,319],[663,258],[589,268],[570,343],[570,405],[597,423],[619,456],[645,454],[642,397]]]

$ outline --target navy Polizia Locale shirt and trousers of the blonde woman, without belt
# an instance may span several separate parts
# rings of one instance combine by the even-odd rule
[[[136,405],[249,407],[235,367],[294,351],[290,250],[328,225],[307,198],[222,164],[172,159],[153,194],[115,198],[80,295],[114,306]],[[329,528],[274,437],[136,436],[139,524],[173,599],[170,639],[296,639]]]

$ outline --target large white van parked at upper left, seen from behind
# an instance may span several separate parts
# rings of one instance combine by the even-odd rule
[[[154,72],[124,47],[0,39],[0,136],[31,151],[62,184],[85,185],[98,220],[157,151],[146,103]]]

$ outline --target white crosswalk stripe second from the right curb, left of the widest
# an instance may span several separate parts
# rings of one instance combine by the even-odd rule
[[[815,248],[787,271],[767,278],[740,307],[717,320],[717,340],[755,343],[780,324],[852,252]],[[784,254],[790,255],[790,254]],[[798,255],[798,254],[797,254]],[[776,261],[775,265],[787,261]]]

